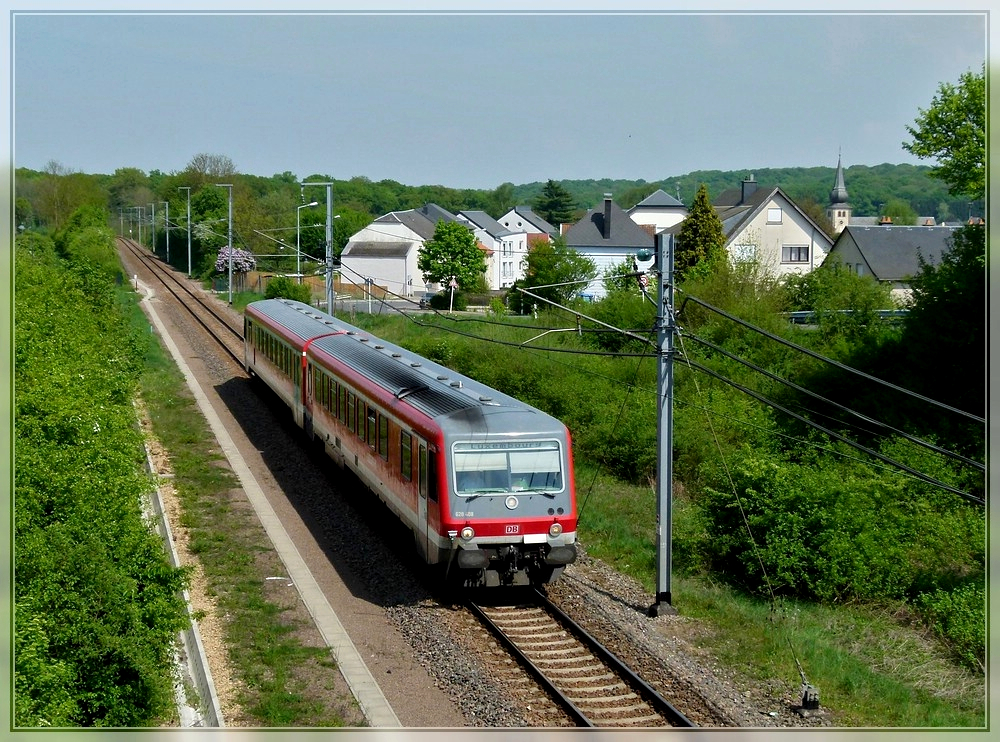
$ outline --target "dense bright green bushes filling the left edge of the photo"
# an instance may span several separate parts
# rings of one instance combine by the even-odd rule
[[[90,260],[18,240],[15,282],[14,723],[154,724],[186,612],[140,510],[145,346]]]

